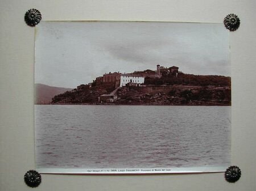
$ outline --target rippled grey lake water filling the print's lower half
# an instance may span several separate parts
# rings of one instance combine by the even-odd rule
[[[231,107],[35,105],[37,168],[228,166]]]

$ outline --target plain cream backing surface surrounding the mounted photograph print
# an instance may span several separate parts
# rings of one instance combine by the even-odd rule
[[[24,173],[35,169],[34,38],[24,23],[28,9],[43,20],[154,20],[222,23],[241,19],[230,32],[232,62],[232,164],[241,179],[224,173],[187,175],[42,175],[34,190],[256,190],[256,26],[255,0],[1,0],[0,1],[0,190],[31,190]]]

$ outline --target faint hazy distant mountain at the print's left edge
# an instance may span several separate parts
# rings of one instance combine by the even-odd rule
[[[53,87],[44,84],[35,84],[35,104],[49,104],[52,97],[58,94],[63,94],[66,91],[71,91],[72,88]]]

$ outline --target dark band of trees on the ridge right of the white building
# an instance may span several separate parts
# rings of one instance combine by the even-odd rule
[[[154,85],[192,85],[192,86],[230,86],[231,78],[220,75],[193,75],[184,73],[163,73],[161,78],[146,77],[144,84]]]

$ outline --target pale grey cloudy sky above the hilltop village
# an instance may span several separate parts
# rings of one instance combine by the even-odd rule
[[[156,65],[187,74],[230,77],[229,32],[223,24],[174,22],[40,22],[35,83],[76,88],[109,72]]]

